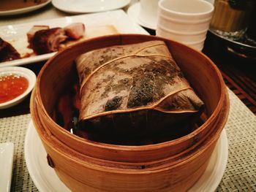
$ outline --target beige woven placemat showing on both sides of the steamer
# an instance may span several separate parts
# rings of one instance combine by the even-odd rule
[[[256,191],[256,116],[234,95],[225,129],[229,142],[227,168],[217,191]],[[11,191],[37,191],[24,158],[30,115],[0,119],[0,142],[13,142],[15,156]]]

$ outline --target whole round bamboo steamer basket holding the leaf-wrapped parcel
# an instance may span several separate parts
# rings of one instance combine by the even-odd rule
[[[54,122],[54,106],[72,77],[72,64],[78,55],[148,40],[165,41],[205,102],[202,126],[169,142],[121,146],[76,137]],[[39,73],[31,96],[31,117],[56,173],[73,191],[185,191],[206,169],[227,120],[228,106],[222,76],[206,55],[160,37],[122,34],[89,39],[51,58]]]

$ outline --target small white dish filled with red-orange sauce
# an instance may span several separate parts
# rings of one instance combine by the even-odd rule
[[[0,110],[20,103],[34,88],[36,75],[20,66],[0,68]]]

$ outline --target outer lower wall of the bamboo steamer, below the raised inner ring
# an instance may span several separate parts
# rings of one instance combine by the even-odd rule
[[[116,161],[99,164],[99,160],[72,150],[45,131],[37,107],[37,101],[31,100],[34,126],[50,155],[50,165],[72,191],[187,191],[206,169],[225,126],[229,105],[225,99],[219,113],[223,118],[219,118],[217,128],[201,145],[179,155],[175,162],[165,161],[165,164],[150,167],[143,163],[125,167]]]

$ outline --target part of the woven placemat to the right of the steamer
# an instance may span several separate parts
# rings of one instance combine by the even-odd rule
[[[256,191],[256,116],[232,91],[228,93],[228,160],[217,191]]]

